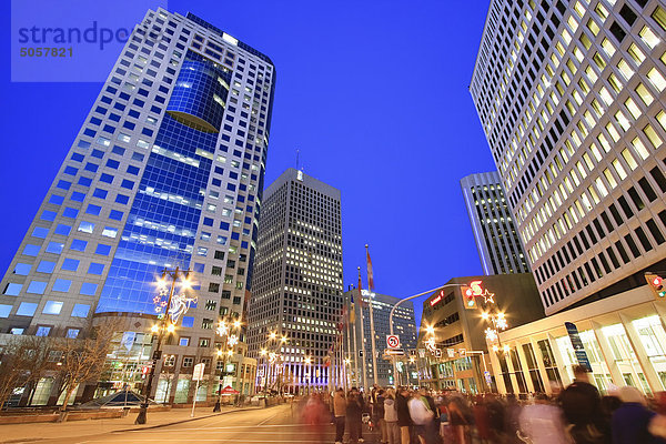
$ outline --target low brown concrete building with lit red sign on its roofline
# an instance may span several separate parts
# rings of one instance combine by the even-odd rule
[[[473,309],[466,306],[461,286],[474,281],[482,281],[483,287],[494,293],[494,303],[478,296]],[[416,360],[418,383],[464,393],[496,390],[500,372],[491,365],[485,340],[491,323],[483,313],[504,313],[511,329],[542,319],[544,311],[534,276],[517,273],[454,278],[446,285],[423,302]],[[427,346],[428,340],[434,340],[434,346]],[[491,374],[491,384],[485,371]]]

